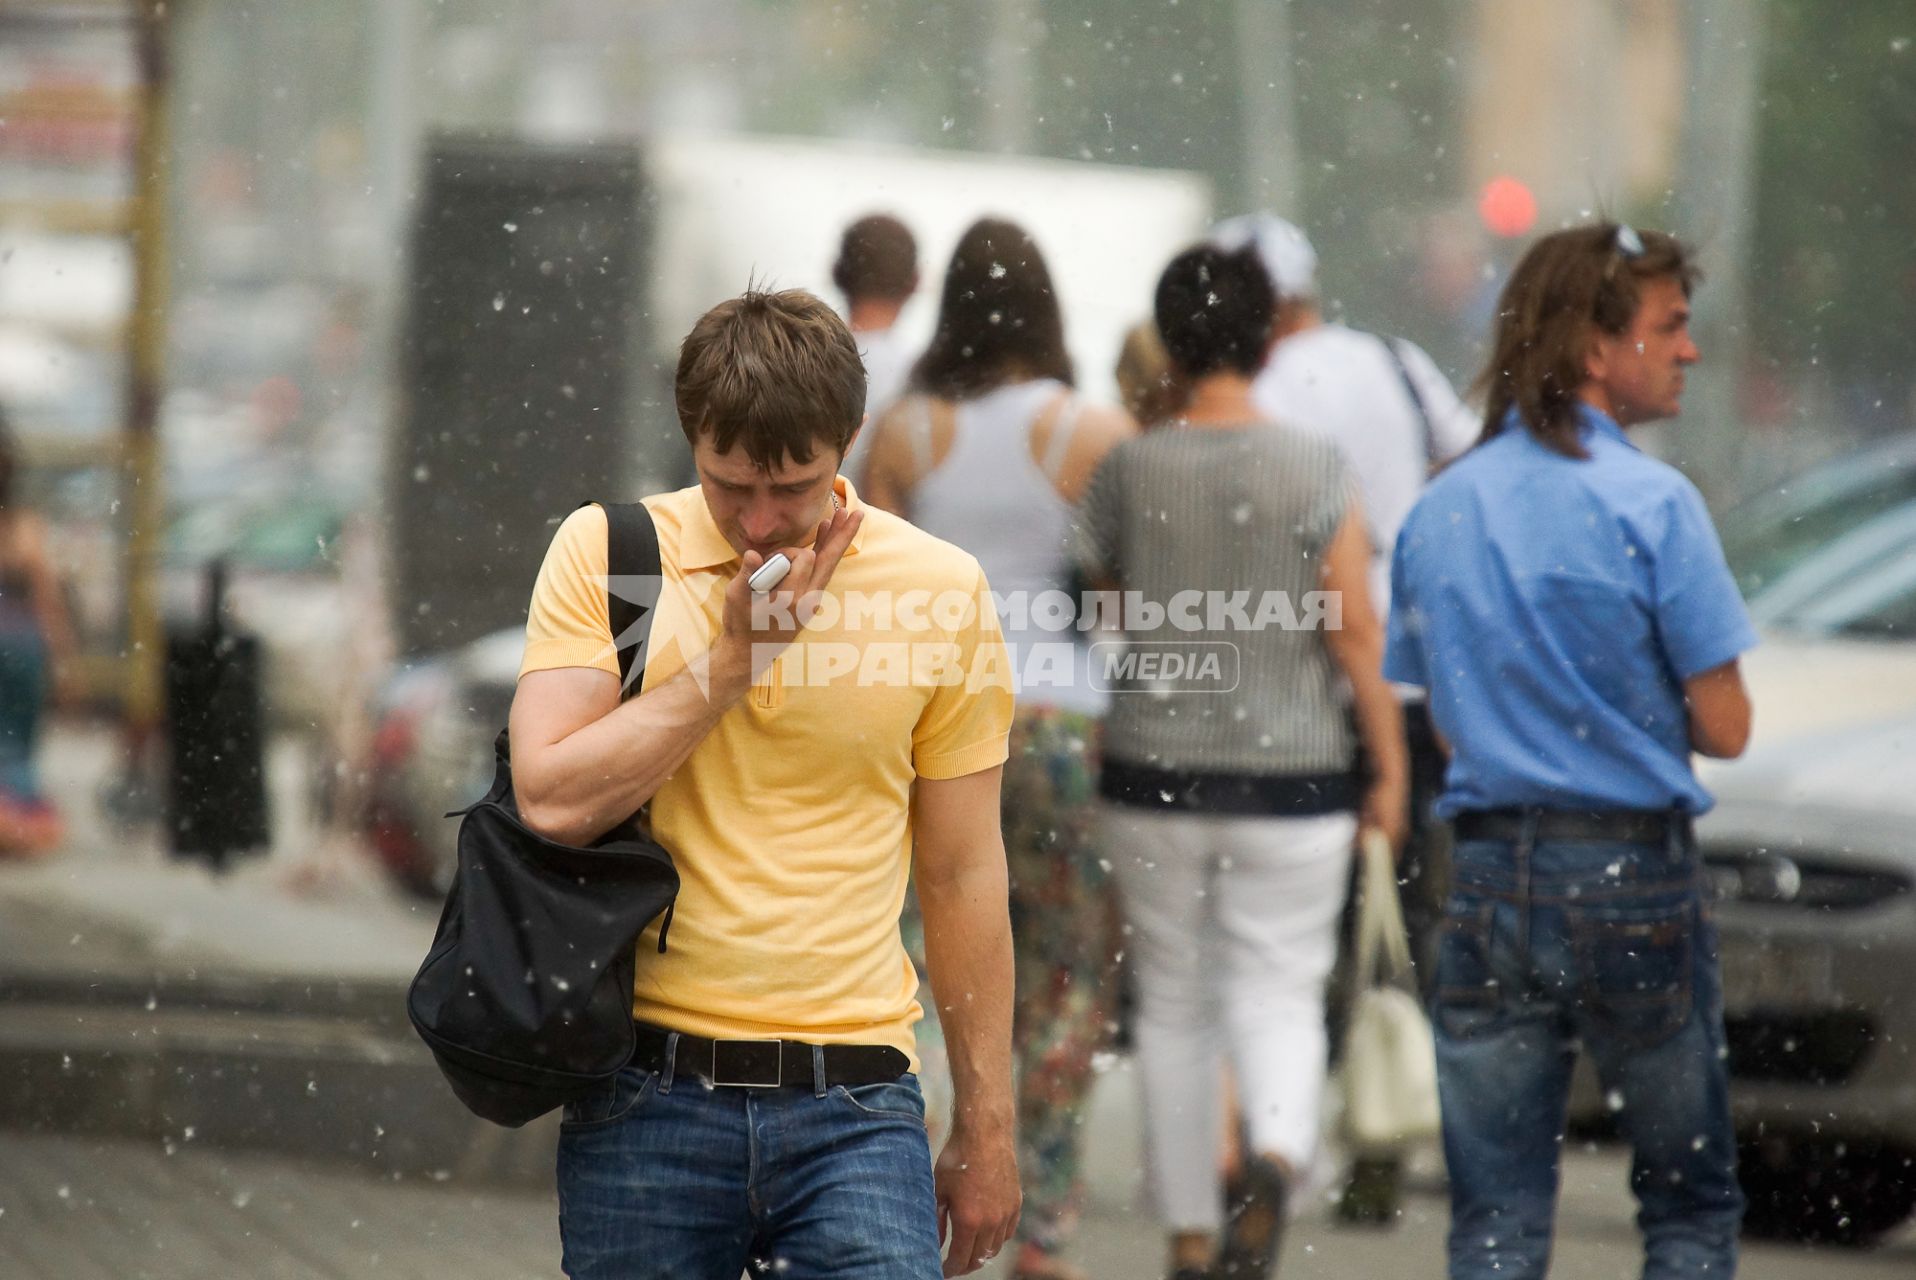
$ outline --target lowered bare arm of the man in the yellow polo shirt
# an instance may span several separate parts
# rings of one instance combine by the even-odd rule
[[[952,1134],[939,1155],[947,1276],[971,1272],[1017,1226],[1012,1100],[1012,916],[998,826],[1002,768],[920,778],[912,830],[925,964],[952,1069]]]

